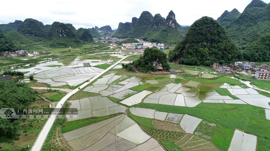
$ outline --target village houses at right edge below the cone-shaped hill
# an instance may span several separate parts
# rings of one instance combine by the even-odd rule
[[[221,64],[214,63],[210,67],[217,70],[217,73],[231,73],[231,72],[241,72],[252,74],[256,79],[270,79],[269,66],[267,64],[262,64],[259,67],[255,65],[255,62],[234,62],[222,66]]]

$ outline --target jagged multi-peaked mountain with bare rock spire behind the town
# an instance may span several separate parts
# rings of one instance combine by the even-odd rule
[[[143,11],[138,19],[133,17],[132,22],[120,22],[113,37],[142,38],[152,42],[176,44],[184,37],[183,33],[186,33],[187,28],[177,23],[172,10],[166,19],[160,14],[153,17],[148,11]]]

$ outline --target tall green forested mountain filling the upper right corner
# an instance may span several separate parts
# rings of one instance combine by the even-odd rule
[[[227,24],[224,22],[226,18],[223,14],[217,21],[224,25],[229,36],[241,50],[246,49],[265,33],[270,33],[270,3],[253,0],[241,15]]]

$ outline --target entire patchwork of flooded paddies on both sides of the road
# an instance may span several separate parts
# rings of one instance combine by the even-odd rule
[[[94,48],[90,47],[84,47],[89,50],[84,55],[16,70],[27,71],[26,76],[34,75],[37,81],[29,85],[76,88],[130,54],[109,48],[91,52]],[[139,57],[131,56],[122,63]],[[232,78],[198,74],[195,67],[187,69],[190,71],[182,75],[152,75],[128,72],[118,65],[69,98],[69,108],[78,109],[78,118],[67,120],[59,129],[60,136],[70,150],[204,151],[270,147],[268,95]],[[240,141],[244,143],[239,144]]]

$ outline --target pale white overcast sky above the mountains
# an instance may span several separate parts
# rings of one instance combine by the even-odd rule
[[[270,0],[262,0],[269,3]],[[202,16],[217,19],[225,10],[236,8],[240,13],[251,0],[4,0],[1,1],[0,24],[37,19],[43,24],[54,21],[71,23],[78,29],[110,25],[117,29],[119,22],[131,22],[143,11],[166,18],[170,10],[180,25],[191,25]]]

